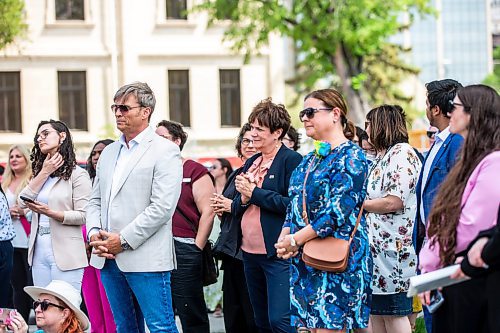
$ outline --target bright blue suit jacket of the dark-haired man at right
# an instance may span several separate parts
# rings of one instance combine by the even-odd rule
[[[418,178],[416,193],[417,193],[417,215],[415,217],[415,224],[413,227],[413,244],[417,254],[422,248],[422,242],[425,237],[425,221],[420,218],[420,203],[423,200],[424,216],[427,220],[432,208],[432,202],[436,196],[439,186],[444,181],[448,172],[455,165],[458,151],[462,147],[463,138],[458,134],[450,134],[444,141],[441,148],[436,154],[434,161],[432,161],[427,182],[425,187],[422,188],[422,177],[424,175],[424,166],[427,162],[429,154],[425,156],[424,164]]]

